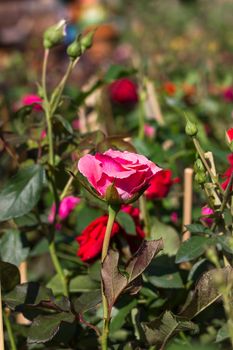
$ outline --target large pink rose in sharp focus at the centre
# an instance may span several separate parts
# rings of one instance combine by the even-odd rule
[[[79,160],[78,169],[102,197],[114,184],[123,201],[144,191],[152,176],[161,170],[142,155],[112,149],[85,155]]]

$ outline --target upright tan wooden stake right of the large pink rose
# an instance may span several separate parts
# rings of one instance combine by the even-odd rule
[[[192,221],[192,192],[193,192],[193,169],[184,170],[184,200],[183,200],[183,237],[182,241],[190,238],[190,232],[185,225],[190,225]]]

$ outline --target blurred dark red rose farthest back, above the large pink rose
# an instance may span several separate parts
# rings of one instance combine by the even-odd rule
[[[122,78],[109,85],[109,94],[113,102],[134,105],[138,102],[137,85],[128,78]]]

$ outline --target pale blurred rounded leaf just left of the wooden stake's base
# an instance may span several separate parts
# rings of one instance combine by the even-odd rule
[[[167,254],[168,256],[176,255],[180,246],[180,238],[177,231],[172,226],[165,225],[155,219],[151,228],[151,237],[153,239],[162,238],[164,254]]]

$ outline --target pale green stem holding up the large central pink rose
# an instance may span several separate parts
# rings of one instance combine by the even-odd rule
[[[104,243],[102,248],[101,262],[103,264],[106,255],[108,254],[109,242],[111,238],[112,227],[117,215],[117,210],[115,210],[111,205],[108,207],[108,222],[106,227],[106,232],[104,236]],[[108,334],[109,334],[109,324],[110,315],[108,312],[108,302],[104,294],[103,283],[102,283],[102,304],[103,304],[103,331],[101,337],[101,349],[108,350]]]

